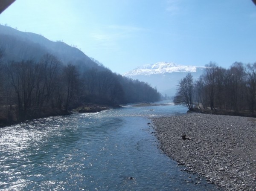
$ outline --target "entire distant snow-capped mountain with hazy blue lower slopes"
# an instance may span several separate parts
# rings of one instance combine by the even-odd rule
[[[184,78],[187,73],[191,73],[194,79],[199,78],[205,67],[184,66],[170,62],[157,62],[155,64],[146,64],[123,74],[126,77],[145,81],[163,95],[174,96],[178,82]]]

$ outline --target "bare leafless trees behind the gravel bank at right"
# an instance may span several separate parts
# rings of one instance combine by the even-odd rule
[[[256,110],[256,63],[234,63],[229,69],[215,63],[206,65],[204,74],[197,81],[189,73],[177,88],[175,104],[185,104],[189,110],[247,112]]]

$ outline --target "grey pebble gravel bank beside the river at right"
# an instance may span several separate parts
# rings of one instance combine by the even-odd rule
[[[256,119],[189,113],[151,120],[160,149],[181,170],[224,190],[256,191]]]

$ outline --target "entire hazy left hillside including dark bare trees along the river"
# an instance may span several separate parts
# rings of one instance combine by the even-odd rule
[[[159,101],[160,93],[66,43],[0,25],[0,97],[4,126],[73,109],[96,112],[106,105]]]

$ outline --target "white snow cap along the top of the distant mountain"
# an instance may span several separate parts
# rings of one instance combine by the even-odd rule
[[[123,74],[124,76],[133,75],[152,75],[172,72],[197,72],[197,69],[204,67],[184,66],[169,62],[157,62],[156,64],[146,64]]]

